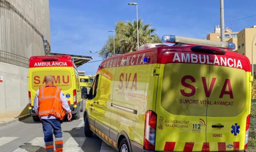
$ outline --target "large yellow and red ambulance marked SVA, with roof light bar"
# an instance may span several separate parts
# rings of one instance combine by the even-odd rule
[[[104,60],[84,134],[123,151],[244,151],[251,67],[233,43],[165,35],[165,43]]]

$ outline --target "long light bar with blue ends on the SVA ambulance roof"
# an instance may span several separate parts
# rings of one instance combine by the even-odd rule
[[[235,49],[236,45],[234,43],[211,41],[204,39],[195,39],[189,37],[175,36],[175,35],[164,35],[162,41],[165,43],[184,43],[188,45],[206,45],[212,47],[221,47],[225,49]]]

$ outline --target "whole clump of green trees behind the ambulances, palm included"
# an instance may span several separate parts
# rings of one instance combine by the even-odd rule
[[[138,20],[139,28],[139,46],[145,43],[162,43],[162,40],[156,35],[156,29],[151,28],[151,24],[144,24],[141,19]],[[118,21],[115,30],[115,53],[124,54],[137,50],[137,21]],[[108,40],[99,51],[102,58],[110,57],[114,52],[113,36],[108,36]]]

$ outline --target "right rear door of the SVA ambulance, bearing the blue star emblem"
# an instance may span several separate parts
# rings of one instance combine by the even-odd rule
[[[249,115],[249,78],[245,59],[210,57],[206,141],[210,151],[243,150]],[[246,64],[245,64],[246,63]]]

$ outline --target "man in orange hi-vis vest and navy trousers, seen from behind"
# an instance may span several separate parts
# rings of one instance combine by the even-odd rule
[[[53,85],[54,79],[48,75],[44,79],[46,85],[41,86],[34,98],[35,112],[41,119],[44,132],[45,149],[47,152],[53,151],[53,133],[55,135],[56,152],[63,150],[63,138],[61,131],[61,121],[68,112],[68,120],[72,114],[68,102],[61,88]],[[52,133],[53,130],[53,133]]]

